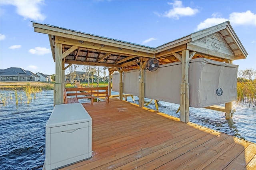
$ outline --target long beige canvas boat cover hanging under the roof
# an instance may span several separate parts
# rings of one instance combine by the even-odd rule
[[[144,97],[180,104],[181,63],[161,65],[156,71],[145,69]],[[192,59],[189,65],[190,107],[202,108],[236,100],[238,65],[205,58]],[[123,93],[137,95],[140,71],[123,75]],[[119,74],[112,76],[113,91],[119,92]]]

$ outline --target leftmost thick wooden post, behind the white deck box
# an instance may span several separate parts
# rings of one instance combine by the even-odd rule
[[[54,104],[60,105],[64,103],[63,85],[62,85],[62,44],[55,44],[55,89],[54,89]]]

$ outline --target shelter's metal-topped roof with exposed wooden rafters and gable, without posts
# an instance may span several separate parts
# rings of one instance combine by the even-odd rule
[[[138,60],[143,62],[156,58],[160,65],[178,62],[184,49],[196,52],[193,58],[204,57],[222,62],[244,59],[248,55],[229,22],[194,32],[155,48],[49,24],[33,22],[33,27],[35,32],[48,34],[54,61],[56,44],[61,44],[62,59],[66,64],[112,69],[124,67],[124,71],[128,71],[138,69]],[[203,44],[203,41],[208,44]],[[223,47],[217,49],[214,45]]]

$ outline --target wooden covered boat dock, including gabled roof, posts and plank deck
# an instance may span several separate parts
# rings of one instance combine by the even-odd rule
[[[92,117],[92,157],[63,169],[255,169],[256,144],[189,122],[190,61],[198,58],[232,64],[248,55],[229,22],[192,33],[159,47],[147,47],[58,26],[33,22],[47,34],[56,63],[54,105],[64,103],[65,70],[72,64],[104,66],[119,74],[119,99],[83,103]],[[144,107],[144,70],[180,62],[180,119]],[[65,65],[66,64],[66,65]],[[139,105],[123,101],[123,73],[139,70]],[[109,82],[111,82],[109,76]],[[232,81],[233,82],[233,81]],[[234,85],[234,84],[233,84]],[[108,85],[111,87],[111,84]],[[168,87],[168,84],[166,85]],[[234,91],[235,87],[232,89]],[[216,90],[217,95],[220,91]],[[111,88],[108,89],[111,96]],[[222,92],[220,93],[222,95]],[[232,101],[223,111],[231,119]],[[221,104],[221,103],[220,103]]]

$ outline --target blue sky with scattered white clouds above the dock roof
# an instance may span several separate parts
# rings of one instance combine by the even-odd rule
[[[46,34],[31,21],[157,47],[229,20],[256,70],[255,0],[0,0],[0,69],[55,74]]]

